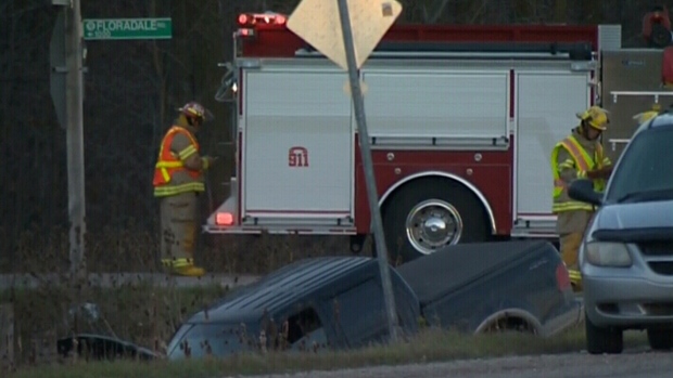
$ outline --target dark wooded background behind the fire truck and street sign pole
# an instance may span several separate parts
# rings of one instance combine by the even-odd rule
[[[671,1],[645,0],[402,2],[402,23],[619,23],[625,47],[640,43],[642,17],[651,5],[671,5]],[[52,265],[65,263],[67,251],[65,131],[56,121],[49,93],[49,41],[56,10],[49,3],[0,1],[0,270],[5,272],[25,269],[25,259],[43,257],[47,250],[54,251]],[[228,131],[231,116],[229,105],[214,99],[224,74],[217,63],[231,60],[236,14],[268,10],[289,14],[296,3],[297,0],[82,1],[85,18],[170,16],[174,25],[174,38],[168,41],[87,43],[89,71],[85,77],[84,106],[90,266],[141,270],[151,264],[157,225],[151,177],[157,144],[175,108],[188,100],[201,101],[215,114],[216,122],[200,139],[205,153],[223,157],[208,177],[211,191],[203,197],[203,217],[227,197],[228,187],[221,183],[228,182],[233,166]],[[213,240],[204,236],[202,255],[208,256],[201,258],[212,270],[251,271],[254,269],[241,259],[223,251],[239,258],[247,256],[251,261],[255,259],[249,256],[252,253],[269,268],[274,251],[296,249],[297,245],[315,247],[315,239],[288,240],[276,238],[264,249],[258,238]],[[340,248],[326,247],[326,243],[332,242],[320,239],[322,244],[314,250]]]

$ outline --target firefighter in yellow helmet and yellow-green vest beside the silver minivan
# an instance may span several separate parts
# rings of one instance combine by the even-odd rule
[[[570,273],[570,281],[576,291],[582,290],[582,277],[577,268],[577,251],[594,207],[568,196],[568,186],[575,179],[594,181],[597,192],[605,185],[612,172],[612,162],[604,155],[600,135],[609,123],[608,113],[592,106],[577,113],[580,125],[568,138],[560,141],[551,153],[554,175],[553,212],[557,214],[556,232],[560,238],[561,257]]]

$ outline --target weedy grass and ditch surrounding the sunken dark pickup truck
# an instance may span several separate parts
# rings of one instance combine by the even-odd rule
[[[132,229],[129,229],[132,230]],[[96,237],[94,237],[96,236]],[[87,234],[87,260],[90,272],[154,272],[157,240],[143,233],[118,234],[105,231]],[[347,248],[330,245],[329,239],[315,244],[307,238],[282,239],[263,235],[247,239],[220,239],[200,249],[200,259],[211,272],[266,274],[287,263],[309,256],[350,255]],[[343,239],[341,239],[343,240]],[[231,242],[231,243],[229,243]],[[247,244],[250,243],[250,244]],[[67,269],[66,234],[26,233],[20,240],[18,259],[11,260],[14,273],[63,272]],[[37,252],[39,251],[39,253]],[[367,253],[364,251],[363,253]],[[199,257],[198,257],[199,259]],[[9,265],[8,265],[9,266]],[[62,277],[61,282],[65,282]],[[93,333],[162,352],[177,327],[191,314],[208,307],[229,292],[219,285],[177,288],[164,282],[162,287],[149,282],[113,283],[99,287],[87,282],[69,285],[42,282],[36,288],[17,283],[0,291],[0,304],[11,303],[15,313],[16,370],[12,377],[204,377],[268,373],[335,369],[381,364],[407,364],[459,359],[576,352],[584,349],[584,328],[568,329],[554,338],[541,339],[522,334],[470,336],[436,329],[423,329],[411,340],[392,346],[372,346],[357,351],[323,350],[313,352],[268,352],[241,354],[228,359],[169,363],[87,362],[85,359],[36,357],[36,349],[47,340],[55,347],[56,338]],[[96,303],[98,315],[80,308]],[[80,309],[79,311],[72,311]],[[626,346],[646,344],[642,333],[626,333]],[[55,350],[55,349],[54,349]],[[38,361],[40,360],[40,361]],[[49,360],[49,359],[45,359]],[[4,372],[0,374],[4,377]]]

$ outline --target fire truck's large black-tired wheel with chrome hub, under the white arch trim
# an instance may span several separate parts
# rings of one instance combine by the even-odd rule
[[[383,209],[385,244],[393,264],[411,261],[452,244],[486,242],[486,210],[462,184],[419,179],[401,187]]]

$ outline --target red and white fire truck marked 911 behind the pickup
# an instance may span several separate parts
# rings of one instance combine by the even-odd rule
[[[348,76],[285,21],[238,17],[236,173],[204,231],[344,235],[358,252],[371,218]],[[670,105],[668,49],[621,39],[620,25],[392,26],[359,69],[391,258],[556,238],[549,159],[576,114],[611,112],[614,161],[634,114]]]

